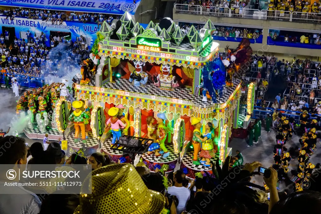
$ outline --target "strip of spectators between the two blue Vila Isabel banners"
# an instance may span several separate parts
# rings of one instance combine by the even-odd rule
[[[0,9],[0,14],[14,19],[14,17],[23,17],[28,19],[41,19],[43,21],[51,21],[52,24],[61,24],[63,21],[80,21],[86,22],[97,22],[98,27],[103,21],[107,21],[108,24],[114,19],[119,19],[119,16],[110,14],[98,14],[98,13],[76,13],[56,10],[40,10],[32,8],[8,8]]]

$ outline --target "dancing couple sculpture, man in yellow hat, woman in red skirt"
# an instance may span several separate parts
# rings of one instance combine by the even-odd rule
[[[205,133],[204,136],[201,134],[201,118],[192,118],[192,125],[195,125],[195,129],[193,131],[193,140],[192,144],[194,147],[194,156],[193,156],[193,164],[194,165],[200,165],[203,164],[205,167],[211,166],[211,158],[215,157],[216,151],[213,149],[213,124],[207,123],[205,125]],[[198,159],[198,153],[201,151],[199,157],[201,157],[201,161]]]

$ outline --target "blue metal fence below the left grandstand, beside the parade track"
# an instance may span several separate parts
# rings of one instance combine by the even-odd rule
[[[4,74],[0,74],[0,83],[5,84],[4,81]],[[17,78],[17,82],[19,82],[20,86],[26,87],[26,88],[39,88],[42,87],[45,84],[45,80],[42,78],[37,77],[29,77],[29,76],[23,76],[23,75],[11,75],[7,74],[9,76],[9,84],[11,84],[11,78],[14,76]]]

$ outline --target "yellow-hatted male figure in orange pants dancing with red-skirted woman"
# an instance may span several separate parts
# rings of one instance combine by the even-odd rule
[[[198,152],[201,149],[201,143],[204,141],[204,139],[201,136],[201,118],[193,117],[192,118],[192,125],[195,125],[195,129],[193,131],[193,139],[192,139],[192,144],[194,147],[194,156],[193,156],[193,164],[194,165],[200,165],[201,163],[198,161]]]

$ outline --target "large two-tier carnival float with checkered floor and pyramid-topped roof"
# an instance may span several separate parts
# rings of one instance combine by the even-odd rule
[[[192,26],[184,35],[170,18],[144,29],[127,13],[112,27],[102,24],[97,72],[87,84],[75,84],[76,99],[92,102],[91,128],[101,152],[116,162],[132,162],[125,151],[133,149],[124,149],[120,141],[152,139],[137,152],[140,163],[167,172],[180,163],[191,178],[211,173],[210,161],[222,162],[231,154],[241,82],[232,78],[235,59],[229,66],[219,58],[214,30],[208,20],[203,29]],[[234,70],[226,70],[230,67]],[[205,132],[210,132],[206,140]],[[197,145],[195,136],[207,148]],[[204,160],[197,158],[206,149]]]

